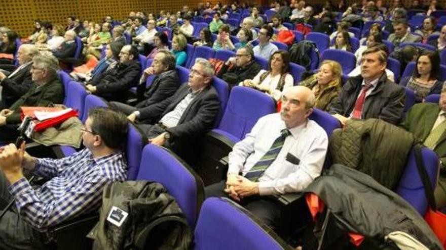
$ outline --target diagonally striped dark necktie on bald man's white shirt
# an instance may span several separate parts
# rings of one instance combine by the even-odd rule
[[[251,181],[257,181],[257,179],[263,175],[263,173],[271,165],[271,163],[276,160],[282,149],[283,143],[285,142],[285,138],[288,135],[290,135],[289,130],[282,129],[282,131],[280,131],[279,137],[274,140],[273,145],[268,150],[268,152],[260,160],[258,160],[258,162],[254,166],[252,166],[248,173],[245,174],[245,177]]]

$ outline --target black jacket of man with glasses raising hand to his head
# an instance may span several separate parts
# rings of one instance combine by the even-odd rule
[[[234,66],[229,70],[228,67],[229,66],[224,64],[223,67],[221,67],[220,72],[218,72],[218,77],[225,80],[231,87],[238,85],[239,82],[243,80],[254,78],[254,76],[256,76],[262,69],[262,67],[254,61],[245,67]]]

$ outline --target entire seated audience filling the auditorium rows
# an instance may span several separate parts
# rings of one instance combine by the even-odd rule
[[[434,196],[438,209],[446,207],[446,71],[441,65],[446,24],[440,27],[430,16],[438,7],[426,8],[417,27],[399,1],[389,8],[374,1],[348,8],[330,1],[322,8],[305,1],[274,1],[271,17],[252,6],[243,9],[237,26],[228,21],[233,13],[242,13],[237,3],[200,5],[194,11],[186,7],[172,15],[131,12],[122,22],[111,16],[99,23],[68,17],[65,28],[35,21],[35,30],[19,47],[18,35],[0,25],[0,141],[11,143],[19,136],[21,107],[63,104],[67,90],[58,78],[60,69],[69,70],[72,80],[109,106],[90,110],[82,128],[85,149],[72,156],[38,159],[23,145],[0,148],[0,208],[15,198],[14,208],[4,215],[8,219],[3,218],[8,222],[0,223],[0,248],[31,249],[29,238],[43,246],[48,239],[42,232],[97,210],[103,186],[126,180],[122,145],[129,121],[147,143],[167,147],[195,166],[203,137],[221,116],[215,79],[225,81],[229,91],[240,86],[258,90],[278,112],[258,119],[234,145],[226,180],[207,186],[206,197],[229,197],[277,230],[280,207],[270,196],[305,190],[321,175],[329,155],[327,133],[310,118],[318,109],[341,127],[375,118],[411,132],[439,156]],[[198,30],[196,18],[212,21]],[[355,34],[351,27],[358,23],[370,25]],[[287,45],[281,39],[289,25],[296,32],[324,33],[331,41],[327,49],[353,55],[354,69],[345,72],[342,59],[331,58],[296,76],[291,46],[278,47]],[[191,60],[188,48],[201,46],[232,56],[217,63],[213,58]],[[398,72],[389,67],[389,58],[399,62]],[[144,68],[145,62],[151,64]],[[180,66],[189,67],[185,83]],[[400,79],[410,66],[413,72]],[[407,91],[413,92],[415,105],[405,110]],[[440,95],[439,103],[425,102],[432,94]],[[48,182],[34,187],[25,170]]]

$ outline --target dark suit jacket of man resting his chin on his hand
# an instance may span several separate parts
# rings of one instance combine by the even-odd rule
[[[139,103],[136,108],[142,109],[159,103],[172,96],[180,85],[176,70],[169,70],[156,76],[148,88],[143,88],[145,82],[139,84],[137,89]]]

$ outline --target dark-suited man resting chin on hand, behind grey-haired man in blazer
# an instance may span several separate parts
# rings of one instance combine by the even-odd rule
[[[159,51],[152,65],[144,70],[136,90],[137,104],[130,106],[124,103],[111,102],[110,107],[122,111],[125,115],[137,116],[141,110],[151,105],[164,101],[172,96],[180,85],[178,74],[175,70],[175,57],[169,51]],[[145,87],[149,76],[154,75],[152,84]],[[133,117],[132,116],[132,117]],[[134,120],[132,118],[131,120]]]

